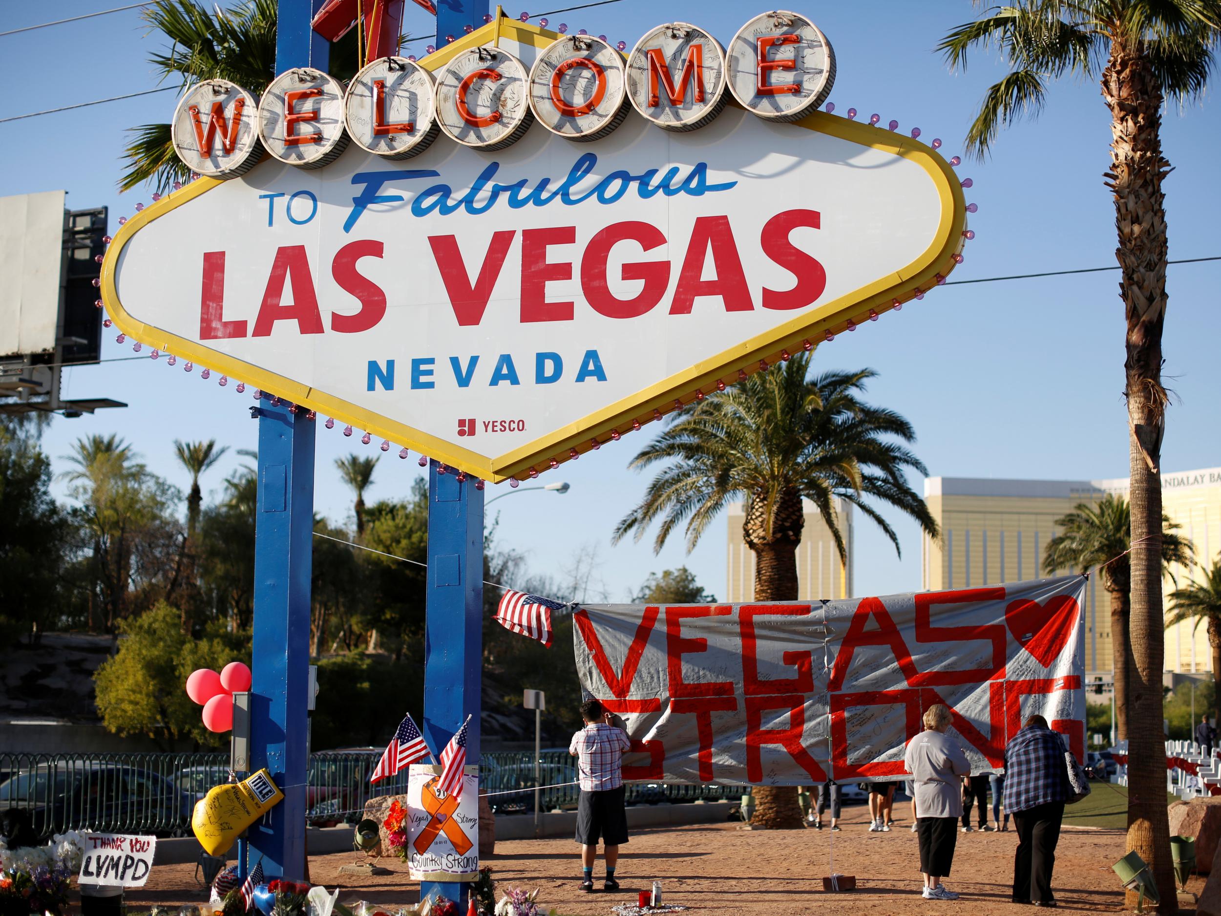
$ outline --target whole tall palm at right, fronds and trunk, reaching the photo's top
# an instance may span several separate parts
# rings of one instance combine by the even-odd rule
[[[1035,115],[1048,84],[1066,73],[1098,78],[1111,114],[1111,167],[1120,296],[1127,321],[1132,501],[1132,657],[1129,684],[1128,849],[1154,867],[1164,911],[1175,909],[1161,769],[1161,440],[1168,403],[1161,383],[1166,318],[1166,210],[1161,106],[1200,98],[1221,42],[1221,0],[1013,0],[951,29],[939,50],[965,67],[972,46],[995,48],[1010,72],[984,95],[967,133],[984,155],[1000,127]],[[1128,904],[1136,901],[1129,892]]]

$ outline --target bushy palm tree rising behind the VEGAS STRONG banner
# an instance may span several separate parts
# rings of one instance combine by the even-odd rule
[[[916,438],[912,425],[857,397],[874,375],[862,369],[811,379],[810,355],[800,353],[687,405],[632,459],[636,469],[658,462],[665,467],[640,506],[619,522],[614,540],[629,533],[640,540],[659,519],[653,546],[661,550],[685,522],[690,551],[725,506],[745,498],[742,534],[756,558],[755,600],[795,601],[803,498],[832,530],[841,561],[846,551],[835,497],[877,522],[895,551],[897,535],[867,498],[900,509],[937,536],[937,523],[904,475],[908,468],[927,473],[905,446]],[[752,824],[801,826],[792,789],[756,787],[755,799]]]

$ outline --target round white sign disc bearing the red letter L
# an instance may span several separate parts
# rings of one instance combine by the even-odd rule
[[[441,133],[432,75],[407,57],[379,57],[352,78],[343,100],[348,134],[383,159],[419,155]]]

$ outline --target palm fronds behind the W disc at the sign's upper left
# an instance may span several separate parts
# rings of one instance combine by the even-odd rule
[[[217,4],[210,12],[195,0],[161,0],[143,13],[172,43],[149,62],[161,79],[182,81],[183,89],[205,79],[230,79],[255,95],[276,76],[276,0],[244,0],[230,10]],[[120,191],[153,181],[165,193],[190,170],[173,151],[170,125],[133,127],[127,148],[127,172]]]

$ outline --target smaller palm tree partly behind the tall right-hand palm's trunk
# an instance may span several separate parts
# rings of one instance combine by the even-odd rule
[[[1125,741],[1128,738],[1128,677],[1132,669],[1132,644],[1128,639],[1131,507],[1122,496],[1107,493],[1093,506],[1077,503],[1072,512],[1056,519],[1056,528],[1063,534],[1048,541],[1043,551],[1043,572],[1054,575],[1061,569],[1077,569],[1084,574],[1099,567],[1103,587],[1111,596],[1116,733]],[[1173,578],[1172,565],[1192,562],[1192,542],[1175,534],[1179,526],[1166,515],[1162,515],[1161,528],[1162,570]]]

